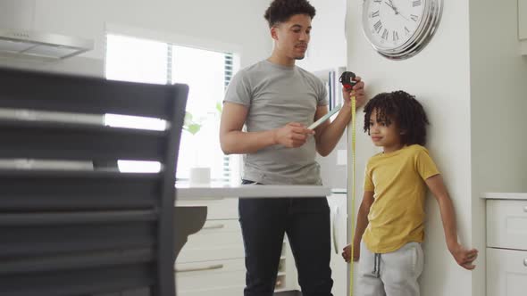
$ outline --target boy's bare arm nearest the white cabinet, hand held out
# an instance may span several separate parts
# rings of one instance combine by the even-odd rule
[[[469,270],[474,269],[475,265],[473,265],[473,261],[478,257],[478,251],[476,249],[464,249],[457,242],[456,213],[454,212],[454,205],[448,196],[447,187],[443,183],[443,178],[438,174],[429,177],[425,182],[439,203],[448,251],[450,251],[454,259],[456,259],[457,264],[461,267]]]

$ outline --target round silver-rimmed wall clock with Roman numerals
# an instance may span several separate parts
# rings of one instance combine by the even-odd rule
[[[392,60],[419,53],[438,28],[443,0],[364,0],[364,35]]]

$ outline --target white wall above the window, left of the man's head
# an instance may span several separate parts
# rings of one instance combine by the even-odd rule
[[[0,60],[0,65],[104,75],[105,23],[168,35],[211,40],[241,53],[241,66],[271,53],[263,19],[268,1],[3,0],[0,25],[95,39],[95,49],[63,62]],[[33,9],[35,7],[35,9]],[[34,15],[30,15],[34,13]],[[10,26],[13,24],[13,26]]]

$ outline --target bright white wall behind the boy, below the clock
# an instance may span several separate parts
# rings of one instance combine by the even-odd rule
[[[442,21],[431,43],[421,53],[405,61],[389,61],[375,53],[362,31],[363,1],[350,0],[347,4],[348,69],[363,76],[369,95],[403,89],[416,95],[423,104],[431,120],[427,146],[454,201],[461,242],[471,245],[468,1],[446,1]],[[362,196],[364,165],[376,150],[371,140],[362,133],[362,113],[358,119],[361,122],[357,128],[360,136],[357,137],[356,194]],[[439,206],[431,196],[426,211],[425,267],[420,280],[422,295],[472,295],[472,274],[458,267],[449,254]]]

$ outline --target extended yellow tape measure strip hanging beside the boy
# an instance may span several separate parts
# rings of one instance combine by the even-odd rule
[[[351,227],[351,259],[349,261],[349,296],[353,296],[353,257],[355,241],[355,162],[356,162],[356,97],[351,97],[351,217],[349,218]]]

